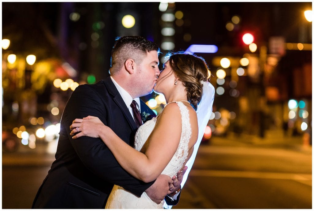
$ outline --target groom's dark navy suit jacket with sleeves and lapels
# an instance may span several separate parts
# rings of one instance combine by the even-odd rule
[[[141,101],[141,113],[144,111],[154,114]],[[113,184],[141,196],[154,183],[144,183],[122,169],[99,138],[72,139],[69,128],[72,121],[88,115],[98,117],[133,146],[138,128],[110,77],[94,85],[78,86],[62,114],[56,160],[32,208],[104,208]]]

